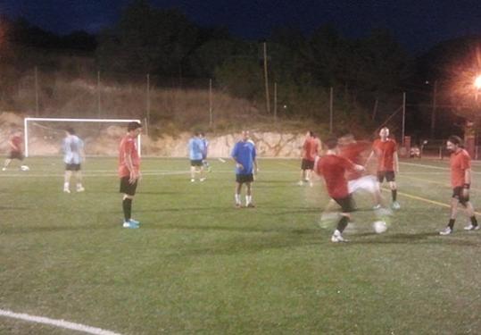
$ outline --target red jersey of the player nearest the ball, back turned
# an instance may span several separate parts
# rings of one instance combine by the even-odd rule
[[[339,155],[324,155],[319,158],[314,170],[326,180],[328,194],[335,199],[342,199],[349,195],[345,172],[354,170],[354,164]]]

